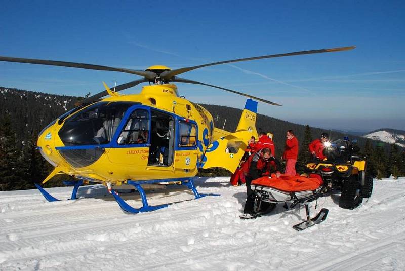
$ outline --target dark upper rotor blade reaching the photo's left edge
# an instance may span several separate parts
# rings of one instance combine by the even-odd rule
[[[51,65],[51,66],[71,67],[71,68],[80,68],[80,69],[119,71],[119,72],[126,72],[126,73],[131,73],[131,74],[136,74],[136,75],[139,75],[139,76],[143,76],[148,80],[153,80],[153,78],[155,78],[155,76],[156,76],[156,74],[154,72],[152,72],[152,71],[114,68],[114,67],[107,67],[107,66],[100,66],[100,65],[93,65],[93,64],[85,64],[85,63],[65,62],[65,61],[31,59],[31,58],[18,58],[18,57],[5,57],[5,56],[0,56],[0,61],[29,63],[29,64],[40,64],[40,65]]]

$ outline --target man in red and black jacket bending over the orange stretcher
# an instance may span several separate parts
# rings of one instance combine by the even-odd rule
[[[271,154],[270,148],[263,148],[252,154],[242,168],[245,175],[246,192],[248,196],[245,203],[245,214],[252,214],[255,203],[255,195],[250,187],[252,181],[263,176],[270,176],[271,173],[275,173],[275,177],[277,178],[281,176],[279,171],[281,168],[280,162]]]

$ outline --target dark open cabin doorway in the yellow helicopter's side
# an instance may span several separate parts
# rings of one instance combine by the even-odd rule
[[[171,166],[174,149],[174,120],[170,114],[151,110],[148,165]]]

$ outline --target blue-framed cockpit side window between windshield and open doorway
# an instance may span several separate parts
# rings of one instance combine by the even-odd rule
[[[143,109],[133,111],[119,134],[118,144],[144,144],[149,136],[149,113]]]

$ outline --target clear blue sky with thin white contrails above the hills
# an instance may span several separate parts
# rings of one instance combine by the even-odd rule
[[[317,127],[405,130],[403,1],[5,1],[0,55],[144,70],[320,48],[322,53],[238,62],[181,77],[284,106],[259,113]],[[0,86],[84,96],[138,79],[119,72],[0,62]],[[197,103],[242,108],[245,98],[177,84]],[[141,86],[123,93],[137,93]],[[275,128],[276,129],[276,128]]]

